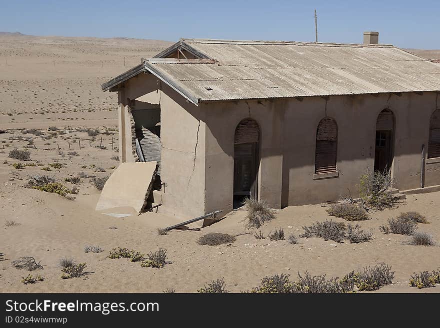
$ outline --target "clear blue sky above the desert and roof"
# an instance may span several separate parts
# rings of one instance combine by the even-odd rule
[[[34,35],[361,42],[440,49],[440,0],[0,0],[0,31]]]

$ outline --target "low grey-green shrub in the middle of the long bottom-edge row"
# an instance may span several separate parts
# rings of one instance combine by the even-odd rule
[[[354,273],[346,275],[342,280],[338,278],[325,279],[325,275],[311,276],[307,271],[304,276],[298,272],[298,281],[293,284],[295,293],[347,293],[354,288]]]

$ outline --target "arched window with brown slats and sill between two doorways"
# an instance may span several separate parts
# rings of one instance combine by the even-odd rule
[[[316,131],[314,173],[336,171],[337,124],[330,117],[320,120]]]

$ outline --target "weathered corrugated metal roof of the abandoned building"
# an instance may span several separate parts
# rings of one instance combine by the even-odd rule
[[[144,70],[194,103],[440,90],[439,65],[389,44],[211,39],[178,44],[215,61],[147,59]],[[107,83],[120,83],[120,76]]]

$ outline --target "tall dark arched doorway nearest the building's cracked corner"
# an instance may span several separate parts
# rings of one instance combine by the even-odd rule
[[[233,207],[247,198],[256,198],[259,127],[247,118],[238,123],[234,136]]]

